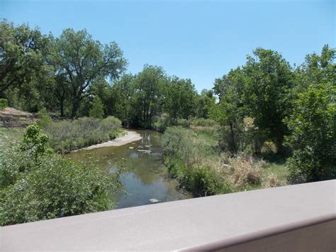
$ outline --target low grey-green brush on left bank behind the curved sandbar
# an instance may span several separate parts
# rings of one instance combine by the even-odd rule
[[[57,121],[45,127],[44,131],[50,137],[50,147],[63,153],[103,143],[123,133],[121,121],[113,116],[102,120],[82,117]]]

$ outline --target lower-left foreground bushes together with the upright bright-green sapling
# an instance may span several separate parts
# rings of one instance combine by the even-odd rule
[[[111,209],[118,177],[51,153],[39,130],[28,126],[23,141],[1,153],[0,225]]]

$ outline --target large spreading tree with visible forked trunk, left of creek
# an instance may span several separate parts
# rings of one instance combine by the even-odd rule
[[[54,40],[54,48],[51,62],[56,74],[62,76],[62,84],[69,87],[71,117],[76,116],[82,99],[91,94],[95,80],[105,77],[116,80],[125,70],[126,60],[118,45],[114,42],[102,45],[86,30],[65,29]]]

